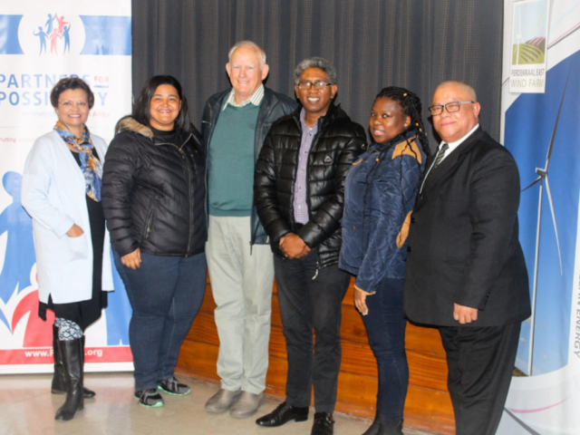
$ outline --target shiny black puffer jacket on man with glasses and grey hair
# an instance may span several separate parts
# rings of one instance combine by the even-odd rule
[[[306,169],[310,220],[296,230],[293,199],[302,139],[301,109],[276,121],[266,136],[256,163],[256,210],[275,255],[284,257],[280,237],[294,232],[308,247],[318,248],[319,267],[331,266],[338,263],[341,250],[344,179],[365,148],[365,135],[338,106],[331,105],[318,120]]]

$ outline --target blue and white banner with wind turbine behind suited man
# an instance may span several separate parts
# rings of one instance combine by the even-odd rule
[[[549,14],[536,8],[541,3],[504,4],[501,135],[521,179],[520,241],[532,299],[498,430],[510,435],[580,433],[580,1],[552,0]],[[550,17],[545,93],[511,86],[512,27],[519,25],[512,14],[527,7],[522,17],[535,11],[538,26]]]

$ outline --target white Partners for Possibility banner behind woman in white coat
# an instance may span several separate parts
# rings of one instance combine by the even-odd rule
[[[32,219],[20,203],[24,160],[57,121],[50,92],[81,77],[95,96],[90,131],[109,142],[131,111],[131,0],[0,5],[0,373],[53,371],[53,320],[38,317]],[[115,273],[109,307],[86,332],[85,371],[132,370],[131,307]]]

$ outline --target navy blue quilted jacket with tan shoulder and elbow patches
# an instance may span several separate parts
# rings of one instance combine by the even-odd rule
[[[403,278],[407,234],[425,154],[413,131],[373,143],[353,163],[344,194],[339,267],[374,293],[383,278]]]

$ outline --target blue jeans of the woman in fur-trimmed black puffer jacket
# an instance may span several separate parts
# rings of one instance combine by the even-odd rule
[[[179,349],[198,314],[206,291],[206,255],[153,256],[141,253],[137,270],[115,266],[133,309],[129,340],[135,365],[135,390],[157,388],[171,379]]]

